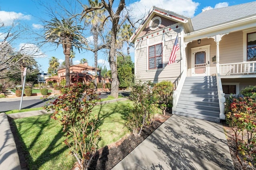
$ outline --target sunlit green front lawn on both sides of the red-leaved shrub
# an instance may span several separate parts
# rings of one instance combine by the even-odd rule
[[[128,114],[130,101],[97,105],[92,114],[98,116],[98,128],[102,140],[99,148],[114,143],[130,132],[124,127],[124,115]],[[51,114],[15,119],[18,133],[24,143],[29,169],[70,170],[76,161],[63,143],[62,126]]]

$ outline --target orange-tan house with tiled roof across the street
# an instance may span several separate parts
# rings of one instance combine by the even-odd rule
[[[66,68],[58,70],[57,76],[49,77],[46,82],[53,81],[54,83],[59,83],[61,80],[66,80]],[[83,84],[88,82],[95,82],[97,74],[97,82],[109,82],[100,76],[100,69],[88,66],[88,63],[75,64],[70,66],[70,82],[71,84],[77,81]]]

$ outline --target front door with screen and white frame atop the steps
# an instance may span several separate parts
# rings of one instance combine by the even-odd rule
[[[210,74],[210,45],[191,49],[191,76]]]

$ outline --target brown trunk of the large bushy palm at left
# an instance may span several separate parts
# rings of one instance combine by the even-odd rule
[[[65,68],[66,68],[66,86],[70,85],[70,50],[71,45],[70,44],[62,44],[63,47],[63,53],[65,55]]]

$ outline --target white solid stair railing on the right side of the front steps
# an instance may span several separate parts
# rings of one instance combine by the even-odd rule
[[[220,119],[225,119],[225,94],[223,93],[222,83],[220,78],[220,64],[216,63],[216,79],[217,79],[217,87],[218,87],[218,98],[220,105]]]

